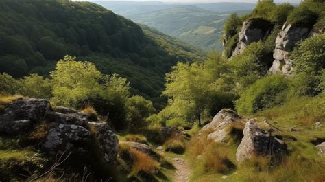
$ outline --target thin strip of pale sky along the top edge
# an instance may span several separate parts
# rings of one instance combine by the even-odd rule
[[[219,3],[219,2],[241,2],[256,3],[258,0],[73,0],[73,1],[160,1],[167,3]],[[275,3],[299,3],[300,0],[275,0]]]

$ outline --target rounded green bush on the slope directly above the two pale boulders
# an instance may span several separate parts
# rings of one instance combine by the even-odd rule
[[[273,75],[257,80],[241,93],[236,109],[242,114],[252,114],[281,104],[286,99],[289,85],[284,76]]]

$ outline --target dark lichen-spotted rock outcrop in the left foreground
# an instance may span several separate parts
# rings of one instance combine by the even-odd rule
[[[91,156],[96,148],[106,163],[117,157],[119,141],[108,124],[88,120],[86,113],[64,107],[54,111],[49,100],[29,98],[14,101],[0,115],[0,135],[33,133],[40,125],[46,126],[36,148],[41,152]]]

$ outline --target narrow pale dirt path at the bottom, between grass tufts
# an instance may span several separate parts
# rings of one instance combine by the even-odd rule
[[[186,165],[186,162],[181,158],[171,159],[173,166],[176,168],[173,180],[175,182],[188,182],[190,176],[189,167]]]

